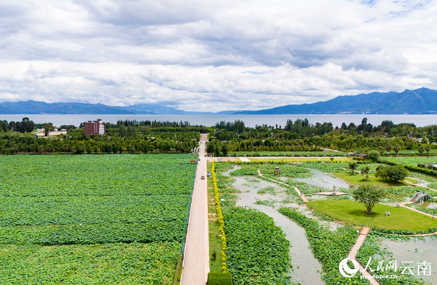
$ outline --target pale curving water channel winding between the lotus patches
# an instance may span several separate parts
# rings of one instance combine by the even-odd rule
[[[322,272],[322,266],[314,257],[313,252],[309,249],[309,243],[306,240],[305,231],[293,221],[282,216],[276,209],[255,204],[257,200],[269,200],[276,201],[275,205],[277,206],[283,206],[280,201],[287,197],[287,195],[284,194],[284,188],[279,187],[275,183],[259,179],[257,179],[259,182],[256,182],[255,187],[255,185],[251,185],[250,180],[254,180],[254,178],[251,177],[247,179],[241,176],[235,177],[235,182],[232,185],[241,191],[241,193],[238,194],[240,199],[237,201],[236,205],[240,207],[248,206],[265,213],[273,218],[276,226],[282,229],[285,233],[285,237],[290,241],[291,245],[290,256],[293,264],[293,271],[290,275],[294,282],[315,285],[325,284],[325,282],[321,280],[320,275],[320,272]],[[268,186],[277,188],[278,194],[257,194],[259,189]],[[297,204],[287,204],[287,207],[299,206]]]

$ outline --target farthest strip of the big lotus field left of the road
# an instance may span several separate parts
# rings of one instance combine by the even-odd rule
[[[190,194],[193,155],[23,155],[0,160],[0,196]]]

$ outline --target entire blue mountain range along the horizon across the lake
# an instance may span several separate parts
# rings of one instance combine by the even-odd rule
[[[437,114],[437,91],[428,88],[403,92],[372,92],[339,96],[313,104],[286,105],[258,111],[189,112],[170,107],[138,104],[126,107],[88,103],[38,101],[0,103],[0,114],[155,114],[155,115],[280,115],[280,114]]]

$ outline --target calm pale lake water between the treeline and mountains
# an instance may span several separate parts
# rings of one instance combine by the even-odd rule
[[[284,126],[287,120],[308,119],[309,123],[331,122],[334,127],[340,127],[344,122],[346,125],[354,123],[361,124],[363,118],[367,123],[380,125],[382,121],[392,120],[393,123],[414,123],[418,127],[437,124],[437,115],[0,115],[0,120],[21,121],[28,117],[35,123],[51,122],[54,126],[75,125],[80,123],[102,119],[103,122],[116,123],[118,120],[151,120],[151,121],[176,121],[190,122],[191,125],[214,126],[220,121],[233,122],[241,120],[246,127],[267,124],[269,126]]]

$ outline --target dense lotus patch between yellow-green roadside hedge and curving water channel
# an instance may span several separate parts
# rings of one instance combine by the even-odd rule
[[[289,242],[273,219],[257,210],[223,210],[227,265],[233,283],[280,285],[289,282]]]

